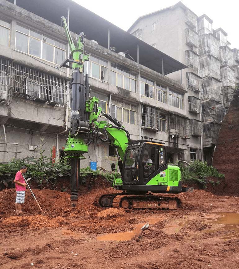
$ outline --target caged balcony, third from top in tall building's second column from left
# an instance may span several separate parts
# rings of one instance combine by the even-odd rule
[[[220,61],[212,55],[205,56],[199,60],[199,76],[221,79]]]

